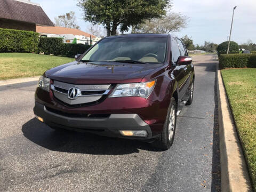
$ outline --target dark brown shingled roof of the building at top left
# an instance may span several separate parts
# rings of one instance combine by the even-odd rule
[[[54,26],[41,6],[15,0],[0,0],[0,18]]]

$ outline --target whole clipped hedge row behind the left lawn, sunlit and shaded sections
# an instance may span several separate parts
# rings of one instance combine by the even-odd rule
[[[90,45],[63,43],[62,38],[38,36],[33,31],[0,28],[0,52],[43,52],[74,58],[90,48]]]

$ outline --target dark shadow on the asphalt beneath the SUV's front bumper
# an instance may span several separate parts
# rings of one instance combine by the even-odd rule
[[[150,143],[108,138],[86,132],[54,131],[36,118],[22,125],[23,135],[49,150],[92,155],[125,155],[139,153],[139,149],[158,151]]]

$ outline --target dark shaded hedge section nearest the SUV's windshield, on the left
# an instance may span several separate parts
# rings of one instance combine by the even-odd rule
[[[76,54],[83,54],[91,45],[63,43],[61,45],[61,55],[74,58]]]

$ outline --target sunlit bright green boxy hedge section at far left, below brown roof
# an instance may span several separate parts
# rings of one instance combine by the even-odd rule
[[[0,28],[0,52],[33,53],[37,50],[38,33]]]

